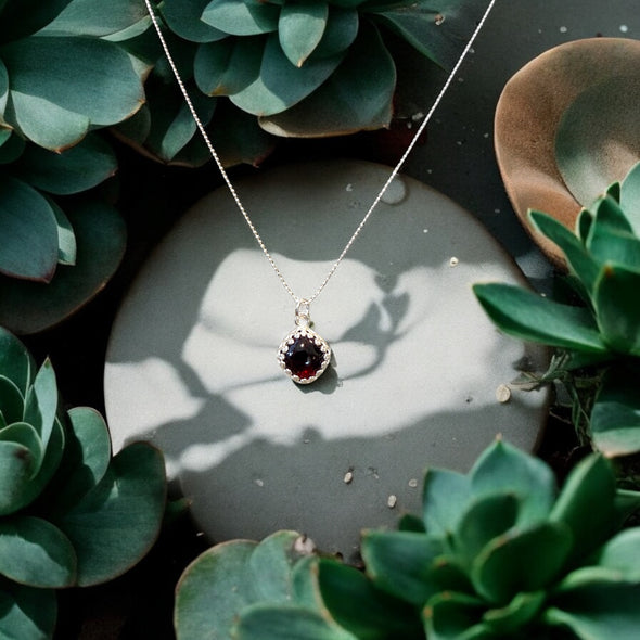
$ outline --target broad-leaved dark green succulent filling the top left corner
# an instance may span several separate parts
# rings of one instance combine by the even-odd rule
[[[97,129],[144,100],[148,68],[112,41],[144,15],[131,0],[0,2],[0,322],[16,332],[64,318],[123,256],[94,190],[117,168]]]

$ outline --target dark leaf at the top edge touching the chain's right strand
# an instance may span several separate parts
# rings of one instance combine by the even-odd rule
[[[451,68],[481,18],[484,4],[477,0],[392,1],[375,3],[367,11],[430,60]]]

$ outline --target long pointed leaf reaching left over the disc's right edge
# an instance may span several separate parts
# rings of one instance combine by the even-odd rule
[[[475,284],[473,291],[489,318],[509,335],[598,356],[609,353],[587,309],[511,284]]]

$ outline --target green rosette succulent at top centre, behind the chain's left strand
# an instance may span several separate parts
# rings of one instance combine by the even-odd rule
[[[396,93],[393,33],[452,66],[486,3],[479,0],[165,0],[168,44],[214,145],[227,164],[258,162],[265,131],[318,137],[388,126]],[[133,46],[133,43],[132,43]],[[165,162],[208,151],[149,34],[140,55],[159,59],[149,104],[123,135]],[[259,126],[258,126],[259,125]]]

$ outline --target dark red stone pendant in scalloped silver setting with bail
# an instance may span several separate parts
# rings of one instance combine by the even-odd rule
[[[309,328],[311,317],[309,304],[305,300],[295,309],[295,329],[278,348],[278,361],[294,382],[309,384],[318,380],[329,367],[331,348],[323,337]]]

